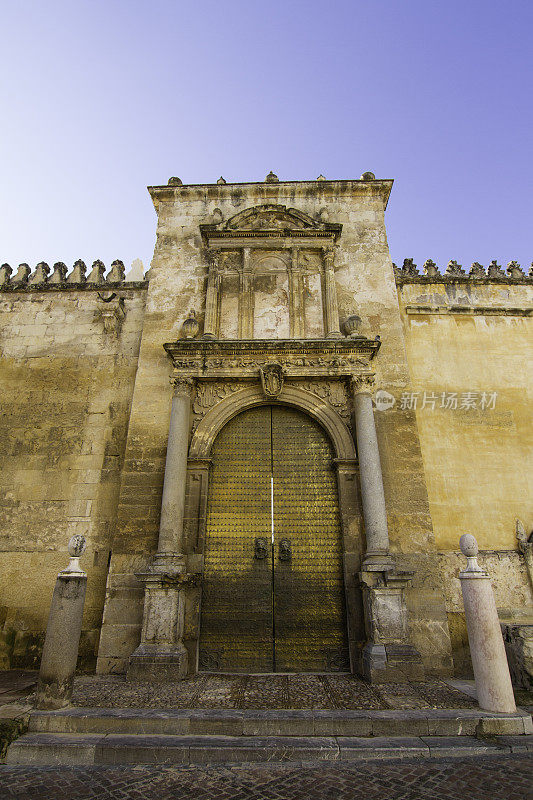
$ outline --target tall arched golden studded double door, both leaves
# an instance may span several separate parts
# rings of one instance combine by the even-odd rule
[[[349,668],[337,485],[322,428],[284,406],[239,414],[212,450],[200,669]]]

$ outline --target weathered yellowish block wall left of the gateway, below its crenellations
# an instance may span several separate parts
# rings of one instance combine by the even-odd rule
[[[2,668],[38,666],[75,533],[88,545],[81,663],[94,664],[145,291],[120,295],[106,333],[96,287],[0,294]]]

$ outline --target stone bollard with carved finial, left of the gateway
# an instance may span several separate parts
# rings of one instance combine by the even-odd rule
[[[87,588],[87,574],[79,564],[85,547],[83,536],[70,539],[69,565],[57,576],[37,682],[37,708],[63,708],[72,697]]]

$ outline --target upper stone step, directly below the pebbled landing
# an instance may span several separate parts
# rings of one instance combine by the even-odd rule
[[[531,716],[479,709],[309,711],[67,708],[34,711],[32,733],[209,736],[474,736],[533,733]]]

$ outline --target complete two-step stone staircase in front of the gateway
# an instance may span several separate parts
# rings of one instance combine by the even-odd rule
[[[8,764],[204,764],[533,751],[531,715],[479,709],[34,711]]]

